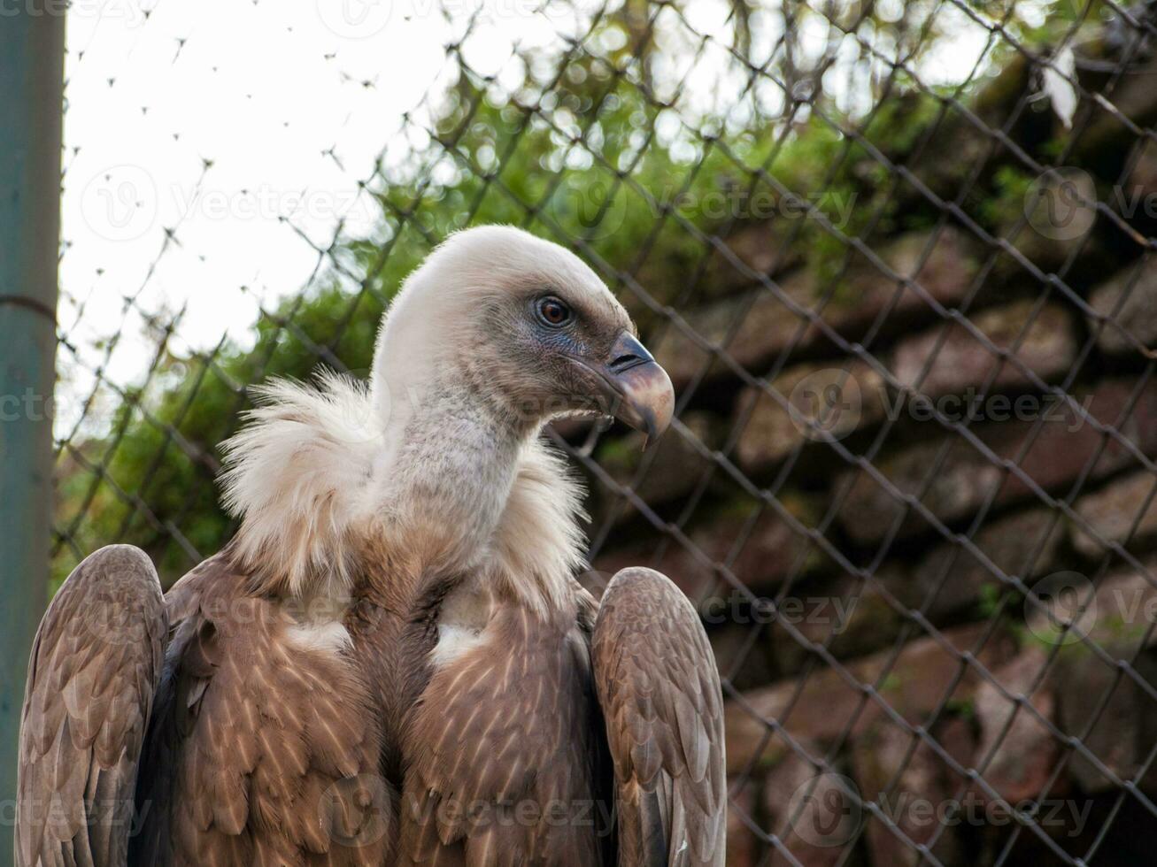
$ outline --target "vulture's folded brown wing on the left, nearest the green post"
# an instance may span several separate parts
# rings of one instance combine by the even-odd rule
[[[167,632],[143,551],[102,548],[40,622],[20,729],[16,864],[124,865]]]

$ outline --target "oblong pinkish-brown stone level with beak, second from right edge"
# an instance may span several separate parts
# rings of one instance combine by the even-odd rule
[[[1009,353],[1048,381],[1073,365],[1076,339],[1063,307],[1049,304],[1034,312],[1034,302],[1022,301],[981,311],[971,319],[997,350]],[[989,390],[997,391],[1030,381],[1015,362],[1002,361],[956,323],[901,341],[893,354],[892,370],[905,387],[931,397],[980,388],[990,379]]]

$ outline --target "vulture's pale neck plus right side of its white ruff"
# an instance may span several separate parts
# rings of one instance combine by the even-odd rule
[[[392,403],[373,470],[386,560],[419,593],[450,580],[543,617],[569,610],[585,562],[582,490],[538,436],[541,421],[494,399],[485,371],[463,368]]]

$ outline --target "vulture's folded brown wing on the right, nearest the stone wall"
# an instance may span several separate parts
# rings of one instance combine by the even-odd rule
[[[665,576],[625,569],[603,594],[591,655],[620,867],[722,865],[723,702],[694,607]]]

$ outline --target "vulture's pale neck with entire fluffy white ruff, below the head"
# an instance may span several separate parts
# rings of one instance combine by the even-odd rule
[[[565,609],[583,564],[581,490],[537,420],[457,370],[390,384],[401,397],[389,402],[381,380],[367,393],[337,375],[260,391],[223,477],[242,518],[229,556],[253,592],[404,603],[430,581],[472,580],[544,615]]]

